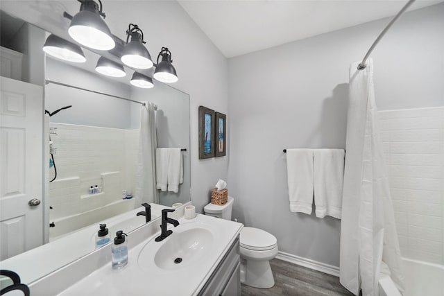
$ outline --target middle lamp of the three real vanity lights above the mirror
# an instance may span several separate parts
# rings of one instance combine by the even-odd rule
[[[131,41],[128,43],[130,37]],[[129,24],[126,31],[126,45],[121,56],[122,62],[135,69],[150,69],[153,67],[153,61],[148,49],[144,46],[145,43],[144,33],[139,26]]]

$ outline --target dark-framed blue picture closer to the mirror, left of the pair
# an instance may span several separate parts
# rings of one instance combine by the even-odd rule
[[[199,106],[199,159],[211,158],[214,153],[214,110]]]

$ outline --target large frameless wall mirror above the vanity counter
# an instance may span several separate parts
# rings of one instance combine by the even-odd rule
[[[103,76],[95,70],[100,55],[88,49],[81,64],[45,56],[48,27],[10,11],[0,19],[1,173],[8,175],[1,178],[1,268],[30,284],[94,251],[100,223],[112,237],[117,228],[144,225],[142,203],[155,219],[191,200],[189,95],[157,81],[134,87],[127,67],[125,77]],[[14,121],[20,116],[25,127]],[[180,149],[177,188],[161,186],[164,152],[157,148]],[[29,268],[40,251],[58,256]]]

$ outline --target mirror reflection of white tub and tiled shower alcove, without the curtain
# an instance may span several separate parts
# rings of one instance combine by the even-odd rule
[[[129,85],[48,56],[46,78],[130,97]],[[49,121],[44,131],[49,141],[49,241],[140,207],[133,198],[139,128],[130,125],[130,104],[81,89],[46,85],[45,110],[53,114],[67,107],[45,118]]]

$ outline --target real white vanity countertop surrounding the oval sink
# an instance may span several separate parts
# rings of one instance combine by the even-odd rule
[[[139,253],[148,242],[151,243],[158,236],[157,233],[130,249],[128,265],[124,268],[114,270],[109,262],[59,295],[197,295],[228,252],[243,225],[200,214],[194,219],[180,218],[179,222],[184,226],[187,223],[205,223],[216,231],[214,242],[209,246],[211,252],[205,253],[205,258],[199,259],[198,263],[175,270],[164,270],[158,268],[153,261],[148,265],[144,263],[142,268],[139,265]],[[169,229],[173,230],[173,234],[165,238],[164,242],[174,236],[174,227]]]

